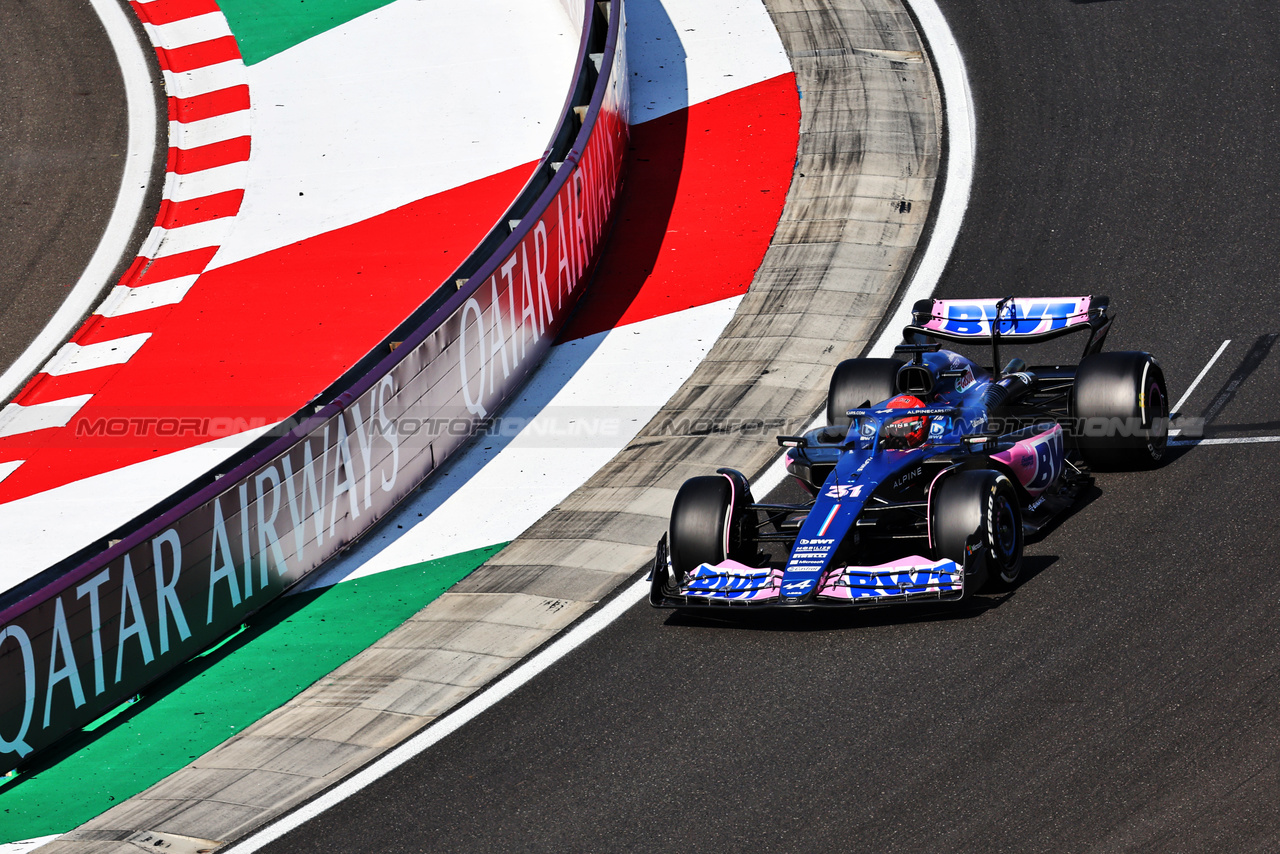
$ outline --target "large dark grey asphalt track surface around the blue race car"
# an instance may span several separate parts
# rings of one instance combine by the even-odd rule
[[[978,173],[938,296],[1110,293],[1280,434],[1280,6],[942,0]],[[1249,355],[1252,353],[1252,357]],[[648,606],[268,850],[1272,850],[1276,444],[1107,474],[968,608]]]

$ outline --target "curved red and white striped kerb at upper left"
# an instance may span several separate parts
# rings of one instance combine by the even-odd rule
[[[0,411],[0,439],[65,428],[182,302],[218,254],[244,198],[248,76],[218,3],[131,5],[155,47],[169,100],[160,214],[120,283]],[[0,480],[22,465],[13,458],[19,456],[20,448],[0,449]]]

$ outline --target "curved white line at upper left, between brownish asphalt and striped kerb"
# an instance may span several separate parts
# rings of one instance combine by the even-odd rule
[[[124,9],[115,0],[90,0],[120,63],[124,76],[124,97],[129,115],[129,141],[125,147],[124,174],[120,192],[111,210],[102,239],[90,259],[88,266],[61,307],[49,319],[35,341],[4,373],[0,374],[0,399],[9,398],[20,384],[70,337],[81,319],[97,302],[106,279],[128,251],[133,227],[142,215],[151,183],[151,164],[156,152],[156,109],[151,87],[151,72],[146,54],[133,33],[133,26]]]

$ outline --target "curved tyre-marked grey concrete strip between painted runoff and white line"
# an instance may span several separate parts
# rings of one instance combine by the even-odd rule
[[[924,234],[941,96],[899,0],[767,6],[804,96],[800,165],[750,291],[689,382],[613,461],[449,593],[42,851],[131,851],[143,840],[196,850],[243,837],[434,721],[643,570],[686,478],[726,465],[755,476],[777,456],[774,434],[810,423],[831,369],[868,346]]]

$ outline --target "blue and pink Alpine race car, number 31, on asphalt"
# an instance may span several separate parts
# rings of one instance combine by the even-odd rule
[[[676,494],[649,602],[660,608],[959,600],[1018,581],[1025,538],[1091,470],[1160,463],[1165,378],[1102,352],[1107,297],[922,300],[897,359],[836,366],[827,426],[778,437],[810,501],[759,503],[721,469]],[[1002,343],[1085,334],[1078,365],[1002,369]],[[991,348],[991,367],[940,342]]]

